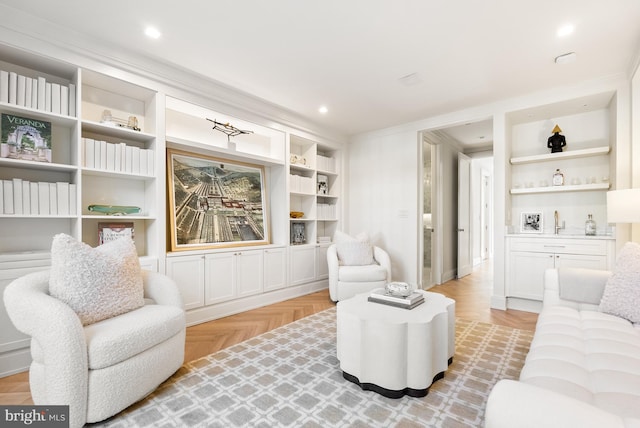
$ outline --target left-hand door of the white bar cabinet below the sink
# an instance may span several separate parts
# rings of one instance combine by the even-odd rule
[[[507,295],[542,300],[544,271],[554,267],[553,259],[554,255],[550,253],[511,252]]]

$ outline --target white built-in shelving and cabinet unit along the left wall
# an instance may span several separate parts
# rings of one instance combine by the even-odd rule
[[[40,78],[67,88],[67,104],[62,100],[54,103],[61,106],[59,110],[38,108],[37,97],[33,98],[35,106],[13,96],[4,100],[0,91],[0,113],[50,122],[52,129],[51,162],[0,157],[0,188],[10,185],[13,191],[28,183],[24,187],[31,190],[32,183],[46,183],[51,203],[55,199],[56,205],[58,186],[63,195],[65,189],[69,193],[66,203],[55,212],[40,212],[39,207],[32,210],[33,206],[28,212],[5,211],[3,204],[0,292],[11,280],[49,265],[55,234],[66,233],[97,246],[99,224],[116,222],[133,223],[143,268],[166,273],[176,280],[189,324],[327,287],[329,242],[323,240],[319,244],[318,239],[331,238],[340,227],[339,143],[298,133],[290,125],[251,113],[247,113],[249,118],[237,115],[238,110],[234,110],[236,115],[227,114],[225,104],[214,99],[196,96],[197,102],[187,101],[194,97],[192,93],[110,67],[100,67],[98,72],[0,46],[0,70],[6,71],[7,76],[23,76],[21,81]],[[208,107],[209,104],[217,107]],[[105,121],[105,111],[117,120]],[[129,122],[130,117],[135,117],[136,123],[130,123],[138,129],[113,123]],[[213,123],[207,119],[251,132],[228,138],[213,130]],[[263,168],[268,242],[171,251],[168,149]],[[291,162],[291,154],[305,157],[309,163]],[[308,188],[291,189],[291,175],[307,178]],[[326,187],[321,191],[317,188],[318,175],[326,177]],[[111,216],[90,210],[90,205],[134,206],[140,212]],[[306,225],[304,245],[293,245],[291,241],[290,212],[295,210],[305,212],[301,220]],[[0,310],[0,325],[2,376],[24,369],[30,356],[28,338],[11,327],[4,310]]]

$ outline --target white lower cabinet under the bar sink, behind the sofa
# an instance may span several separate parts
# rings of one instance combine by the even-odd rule
[[[613,268],[615,241],[594,238],[507,238],[507,297],[542,301],[544,271]]]

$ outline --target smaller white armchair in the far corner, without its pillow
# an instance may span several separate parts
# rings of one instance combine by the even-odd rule
[[[391,281],[391,260],[380,247],[373,247],[375,263],[349,266],[338,259],[336,245],[327,249],[329,265],[329,296],[334,302],[348,299],[375,288],[384,288]]]

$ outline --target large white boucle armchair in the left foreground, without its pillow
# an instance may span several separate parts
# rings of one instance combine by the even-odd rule
[[[49,294],[49,271],[23,276],[4,293],[16,328],[31,336],[36,405],[69,405],[71,427],[109,418],[144,398],[181,367],[185,314],[176,284],[143,271],[146,304],[83,327]]]

